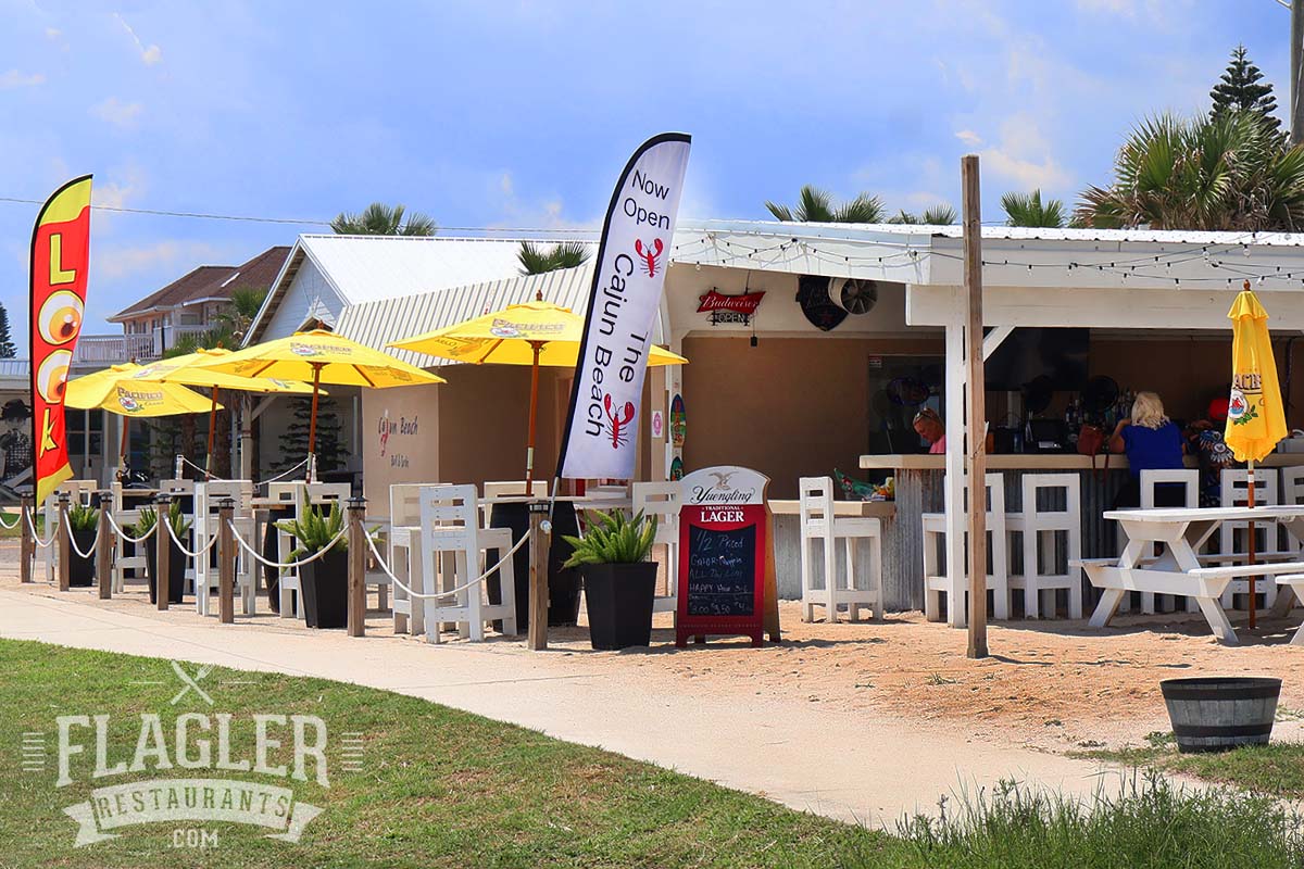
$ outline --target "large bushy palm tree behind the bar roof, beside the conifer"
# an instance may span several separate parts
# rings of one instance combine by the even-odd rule
[[[1097,228],[1297,232],[1304,146],[1252,112],[1142,121],[1114,160],[1114,182],[1081,194],[1076,219]]]

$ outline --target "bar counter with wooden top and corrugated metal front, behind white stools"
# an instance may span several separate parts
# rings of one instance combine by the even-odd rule
[[[1102,513],[1114,507],[1119,490],[1127,482],[1128,460],[1110,455],[1015,453],[988,455],[987,472],[1005,478],[1005,509],[1022,509],[1022,476],[1025,473],[1077,473],[1082,491],[1082,556],[1112,558],[1118,554],[1112,522]],[[947,457],[941,455],[871,455],[861,456],[865,470],[887,470],[896,478],[896,516],[883,520],[883,597],[888,610],[923,608],[923,513],[943,511],[943,477]],[[1196,466],[1187,456],[1188,468]],[[1304,452],[1277,452],[1256,468],[1274,469],[1304,465]],[[777,537],[777,534],[776,534]],[[1088,589],[1090,594],[1091,590]]]

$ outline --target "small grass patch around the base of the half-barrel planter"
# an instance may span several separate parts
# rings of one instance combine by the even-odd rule
[[[1179,754],[1171,734],[1150,734],[1145,747],[1081,752],[1080,757],[1193,775],[1256,793],[1304,799],[1304,743],[1247,745],[1217,754]]]

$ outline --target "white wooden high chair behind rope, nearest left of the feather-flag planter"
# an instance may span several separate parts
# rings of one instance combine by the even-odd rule
[[[422,486],[421,586],[422,594],[467,585],[492,565],[486,550],[511,548],[510,529],[481,529],[475,486]],[[502,603],[485,601],[485,584],[476,582],[449,597],[426,598],[422,606],[426,642],[439,642],[442,623],[454,623],[463,638],[485,637],[485,621],[501,619],[505,634],[516,633],[516,581],[512,560],[499,568]]]

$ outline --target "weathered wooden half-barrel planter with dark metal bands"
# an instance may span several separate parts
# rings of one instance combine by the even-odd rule
[[[1273,734],[1281,679],[1196,677],[1159,683],[1172,735],[1181,752],[1226,752],[1266,745]]]

